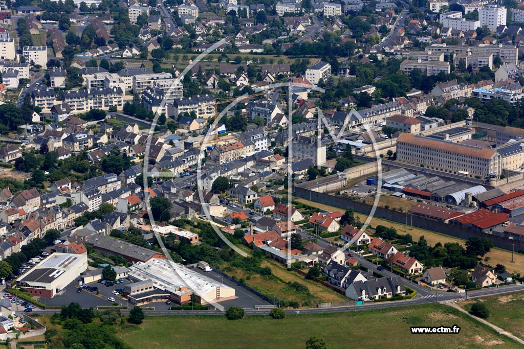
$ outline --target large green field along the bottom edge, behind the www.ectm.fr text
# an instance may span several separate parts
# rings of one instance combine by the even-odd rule
[[[460,334],[411,334],[411,326],[458,325]],[[146,334],[147,335],[144,335]],[[169,335],[166,335],[169,334]],[[139,327],[117,334],[134,348],[304,348],[320,336],[328,348],[517,348],[466,314],[432,304],[356,313],[246,317],[147,317]],[[359,343],[359,344],[357,344]]]

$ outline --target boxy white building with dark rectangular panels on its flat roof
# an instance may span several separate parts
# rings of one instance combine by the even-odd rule
[[[88,255],[53,253],[16,280],[35,297],[54,297],[88,268]]]

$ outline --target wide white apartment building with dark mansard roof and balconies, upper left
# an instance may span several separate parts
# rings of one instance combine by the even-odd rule
[[[124,92],[120,87],[77,89],[62,92],[62,101],[71,107],[71,111],[86,112],[91,109],[109,110],[116,106],[122,110],[124,106]]]

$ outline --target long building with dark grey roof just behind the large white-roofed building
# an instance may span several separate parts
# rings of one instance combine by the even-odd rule
[[[92,235],[84,243],[93,246],[94,250],[102,254],[122,256],[131,263],[149,262],[152,258],[166,258],[160,252],[103,235]]]

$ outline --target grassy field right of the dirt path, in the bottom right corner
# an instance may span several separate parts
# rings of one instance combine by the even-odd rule
[[[480,298],[489,309],[490,323],[524,339],[524,292],[509,295]],[[460,306],[470,311],[475,300],[460,302]]]

